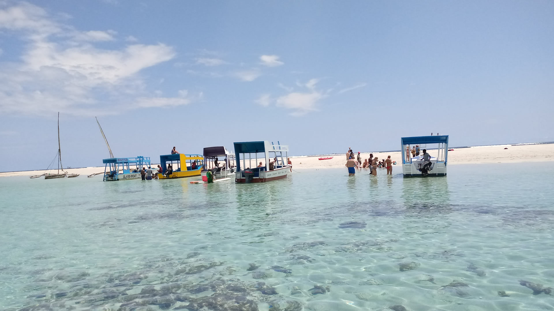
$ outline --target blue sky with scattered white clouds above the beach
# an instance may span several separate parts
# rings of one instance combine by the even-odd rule
[[[554,141],[552,1],[0,0],[0,172]]]

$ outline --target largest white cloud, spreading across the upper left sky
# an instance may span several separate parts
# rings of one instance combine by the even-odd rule
[[[190,99],[148,96],[138,75],[172,59],[165,44],[132,44],[100,49],[93,43],[114,40],[114,30],[78,31],[53,20],[29,3],[0,1],[0,31],[21,35],[26,45],[20,63],[0,63],[0,113],[38,114],[64,111],[101,115],[118,109],[186,105]],[[135,102],[136,105],[112,102]],[[119,106],[118,106],[119,105]],[[107,110],[107,107],[110,109]]]

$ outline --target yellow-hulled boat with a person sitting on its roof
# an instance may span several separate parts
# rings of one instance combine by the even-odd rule
[[[193,163],[196,160],[196,168]],[[157,173],[159,179],[184,178],[200,176],[204,157],[201,154],[166,154],[160,155],[162,173]],[[171,168],[171,171],[169,171]],[[169,171],[169,172],[168,172]]]

